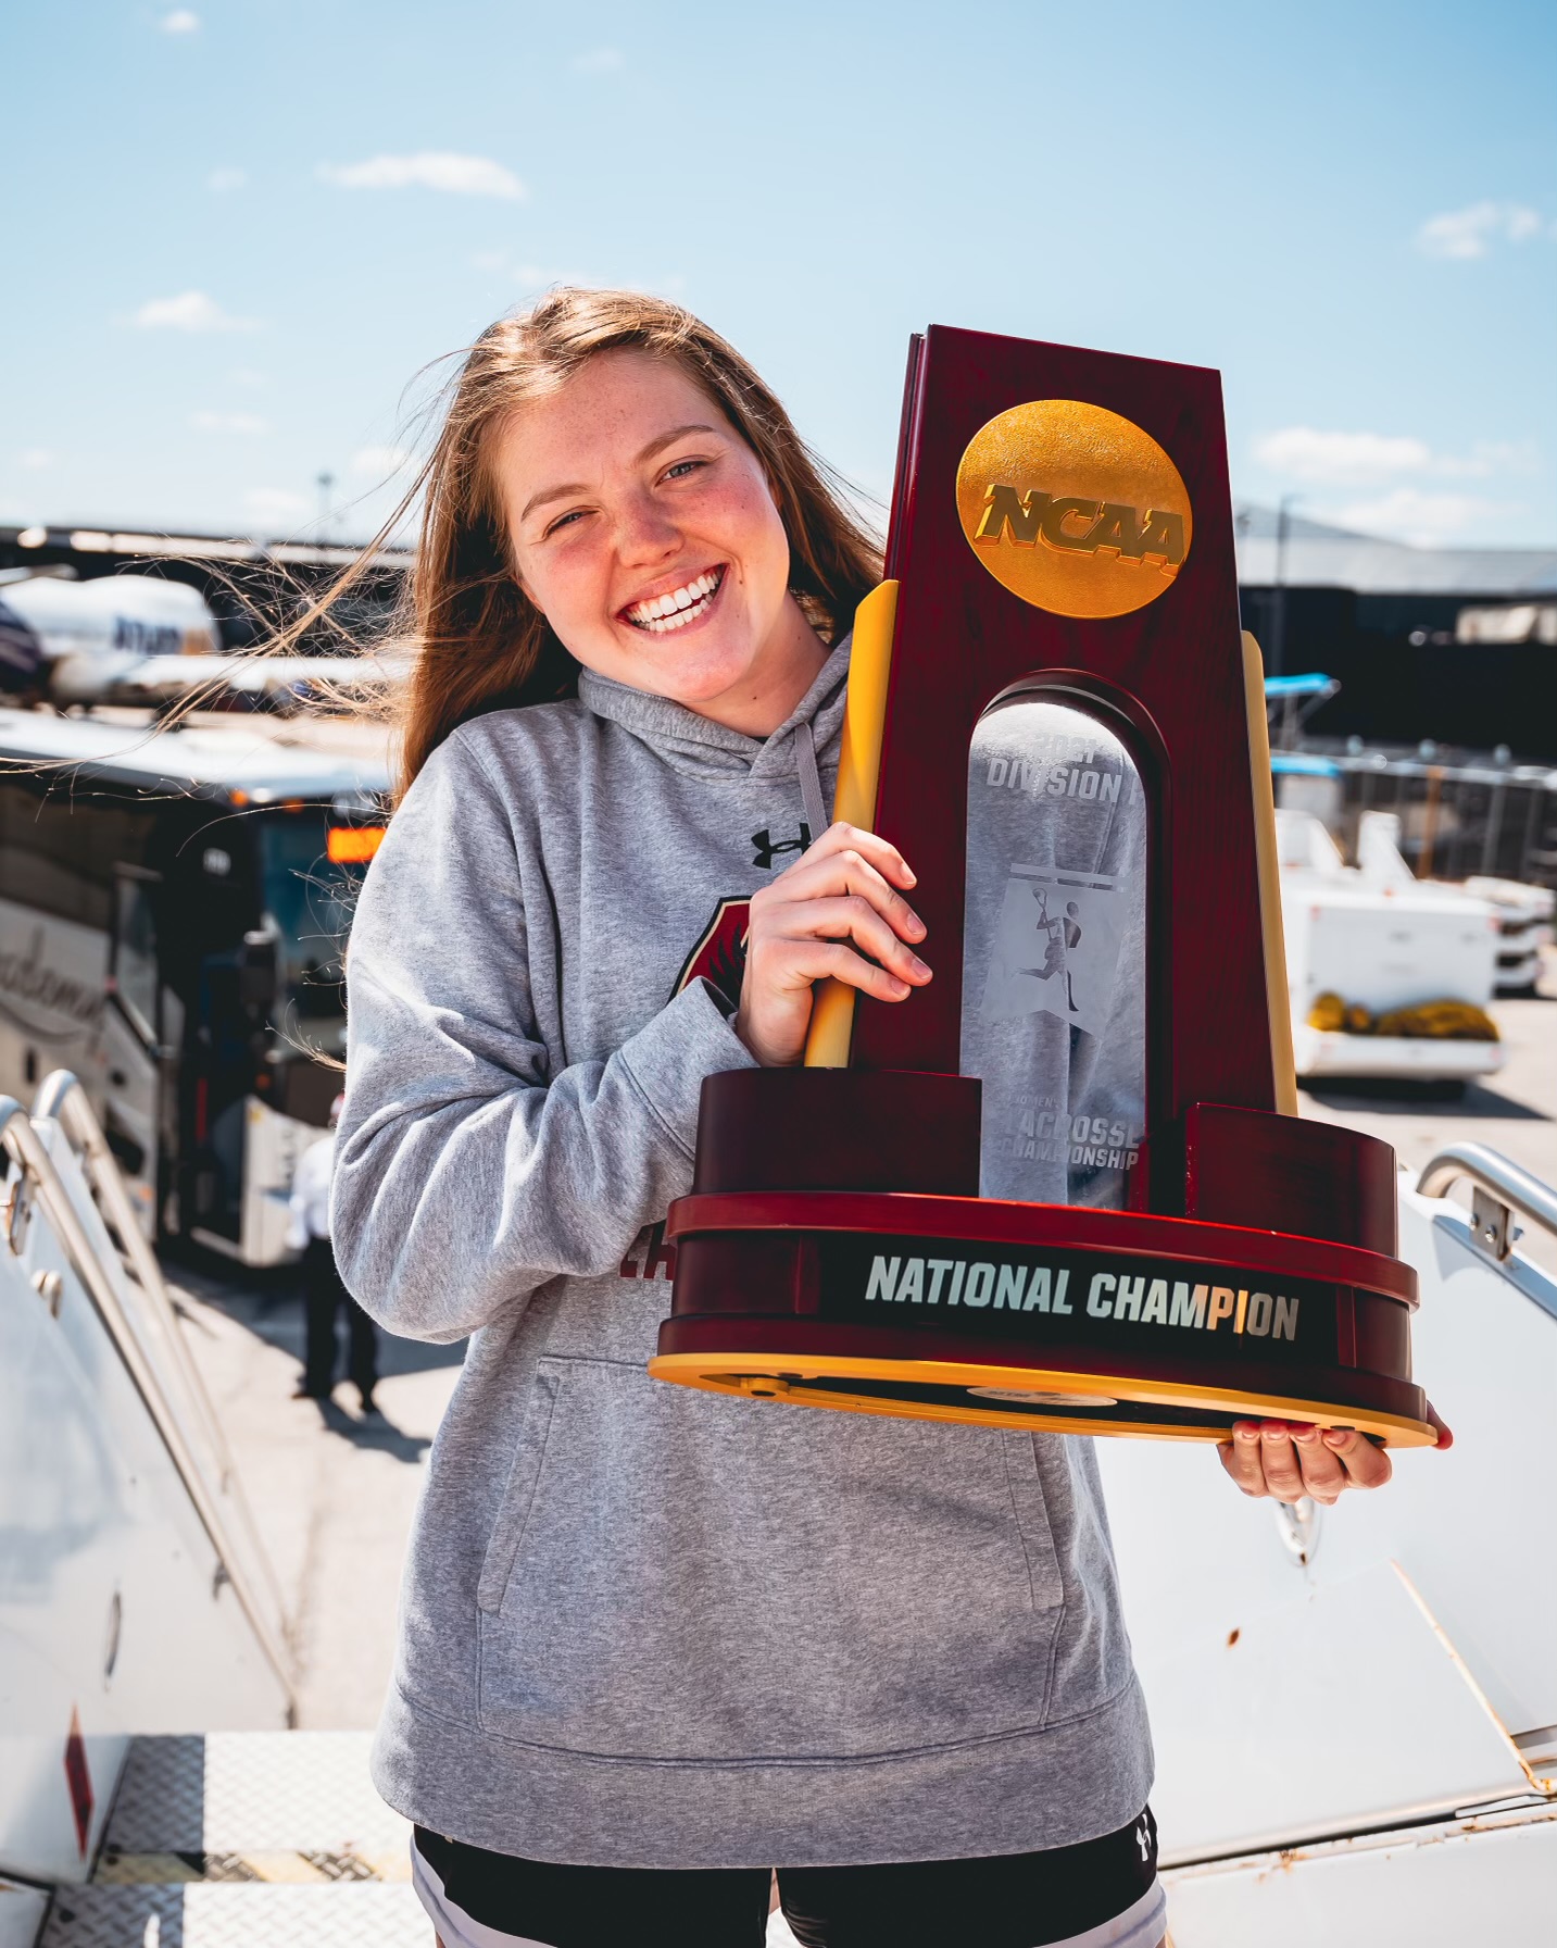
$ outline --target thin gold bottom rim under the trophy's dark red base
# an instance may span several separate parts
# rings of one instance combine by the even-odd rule
[[[677,1334],[681,1338],[683,1334]],[[777,1338],[777,1334],[773,1334]],[[654,1379],[745,1401],[831,1406],[851,1414],[942,1420],[1030,1434],[1113,1434],[1160,1442],[1226,1442],[1238,1420],[1304,1420],[1357,1428],[1386,1447],[1432,1447],[1436,1430],[1417,1412],[1341,1405],[1296,1393],[1209,1387],[1201,1381],[985,1360],[915,1360],[821,1354],[815,1329],[798,1352],[662,1352]],[[1407,1389],[1415,1391],[1415,1389]],[[1415,1406],[1413,1401],[1395,1403]]]

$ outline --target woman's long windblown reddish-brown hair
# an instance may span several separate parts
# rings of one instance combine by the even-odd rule
[[[574,692],[578,664],[518,584],[490,454],[518,405],[555,392],[596,353],[619,349],[677,360],[761,460],[790,543],[790,590],[827,641],[849,629],[880,579],[880,549],[841,483],[732,345],[664,298],[551,290],[481,333],[450,388],[432,454],[401,505],[278,645],[329,616],[420,495],[420,542],[393,627],[397,647],[413,656],[399,703],[399,793],[465,719]]]

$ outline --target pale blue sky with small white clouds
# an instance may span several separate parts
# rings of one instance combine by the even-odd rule
[[[928,321],[1220,366],[1234,491],[1557,543],[1557,8],[14,6],[0,520],[370,532],[428,360],[701,312],[868,491]]]

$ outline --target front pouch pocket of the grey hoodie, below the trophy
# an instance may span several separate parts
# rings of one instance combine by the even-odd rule
[[[851,1759],[1043,1724],[1065,1611],[1026,1434],[539,1362],[479,1588],[483,1730]]]

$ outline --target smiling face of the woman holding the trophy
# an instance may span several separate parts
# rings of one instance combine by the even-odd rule
[[[525,594],[586,668],[767,736],[827,651],[767,475],[670,358],[599,353],[494,456]]]

